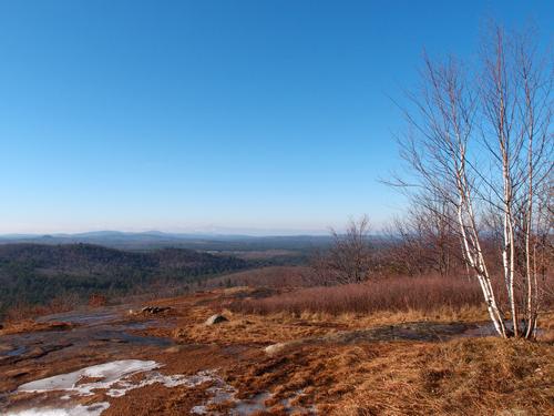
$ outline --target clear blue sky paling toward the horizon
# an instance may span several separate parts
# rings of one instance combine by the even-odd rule
[[[389,97],[553,1],[0,1],[0,233],[317,232],[402,199]]]

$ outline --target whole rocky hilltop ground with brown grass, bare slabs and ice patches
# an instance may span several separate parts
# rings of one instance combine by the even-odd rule
[[[488,336],[480,312],[452,319],[413,312],[260,316],[225,308],[236,297],[257,294],[214,291],[6,325],[0,329],[0,413],[554,410],[548,325],[543,341],[524,343]]]

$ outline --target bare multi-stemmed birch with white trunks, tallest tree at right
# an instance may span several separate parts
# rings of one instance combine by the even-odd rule
[[[473,73],[453,58],[433,63],[425,57],[423,85],[409,94],[410,129],[400,140],[416,181],[397,184],[431,191],[449,205],[447,219],[456,225],[463,257],[503,337],[534,337],[540,286],[547,273],[551,68],[527,37],[507,39],[501,28],[491,31],[482,65]],[[496,235],[503,293],[485,255]]]

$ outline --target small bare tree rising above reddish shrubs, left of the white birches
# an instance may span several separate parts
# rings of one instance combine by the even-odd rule
[[[312,260],[319,283],[347,284],[363,282],[370,272],[369,219],[351,220],[345,233],[331,230],[332,245]]]

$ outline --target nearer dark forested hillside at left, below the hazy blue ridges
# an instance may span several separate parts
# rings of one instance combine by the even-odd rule
[[[244,260],[185,248],[125,252],[90,244],[0,245],[0,314],[10,306],[40,304],[76,294],[121,295],[148,286],[188,284],[244,270]]]

